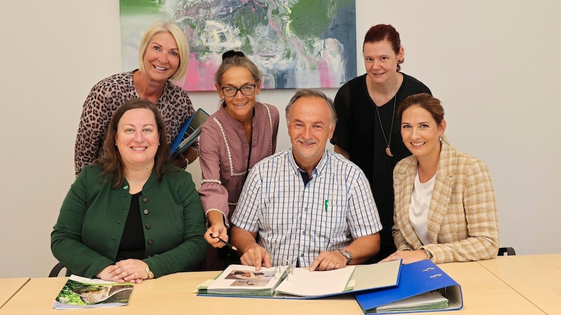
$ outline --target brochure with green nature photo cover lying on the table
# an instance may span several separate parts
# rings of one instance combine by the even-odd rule
[[[116,307],[128,304],[134,283],[89,279],[72,274],[53,302],[53,309]]]

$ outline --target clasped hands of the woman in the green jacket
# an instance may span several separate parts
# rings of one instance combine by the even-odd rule
[[[142,283],[142,280],[148,279],[146,266],[146,262],[143,262],[142,260],[126,259],[116,262],[115,265],[105,267],[95,276],[102,280],[115,281],[119,283]]]

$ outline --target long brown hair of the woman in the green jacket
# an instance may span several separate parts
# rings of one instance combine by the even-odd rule
[[[154,157],[154,167],[156,168],[156,174],[158,174],[158,181],[162,179],[162,174],[165,173],[166,169],[170,169],[168,165],[171,153],[168,140],[166,139],[166,134],[168,133],[166,132],[165,123],[163,122],[160,111],[147,99],[129,99],[113,113],[113,117],[111,117],[111,122],[109,122],[109,127],[107,128],[105,140],[103,141],[102,154],[94,161],[102,166],[100,178],[105,181],[112,181],[112,188],[119,188],[123,185],[125,179],[125,168],[123,160],[121,159],[121,154],[115,145],[115,135],[123,114],[131,109],[149,109],[154,113],[156,128],[160,135],[160,145]]]

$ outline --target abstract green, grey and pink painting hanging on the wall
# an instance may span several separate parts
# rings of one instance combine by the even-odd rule
[[[123,71],[138,68],[142,34],[171,20],[189,39],[188,91],[215,90],[222,53],[241,50],[262,87],[340,87],[356,76],[354,0],[120,0]]]

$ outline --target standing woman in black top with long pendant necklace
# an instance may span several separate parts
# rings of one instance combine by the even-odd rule
[[[364,39],[366,73],[343,85],[334,99],[337,126],[331,140],[341,153],[365,172],[383,229],[381,246],[372,262],[396,251],[393,226],[393,167],[411,153],[400,134],[396,111],[406,97],[431,90],[400,72],[404,61],[398,31],[391,25],[371,27]]]

